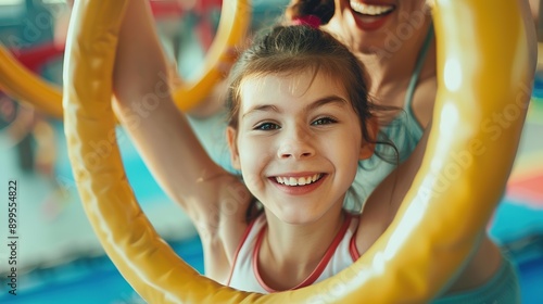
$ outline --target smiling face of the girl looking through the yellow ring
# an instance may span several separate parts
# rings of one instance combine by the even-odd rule
[[[359,159],[361,123],[345,89],[326,74],[243,80],[239,129],[228,128],[233,166],[276,217],[312,223],[340,210]]]

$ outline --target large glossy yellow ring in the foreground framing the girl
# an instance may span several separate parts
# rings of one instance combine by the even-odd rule
[[[520,2],[435,1],[434,124],[422,167],[393,224],[337,276],[301,290],[262,295],[199,275],[160,238],[140,210],[111,136],[118,16],[134,2],[76,1],[77,22],[70,27],[65,59],[65,132],[80,198],[103,248],[149,303],[428,302],[470,253],[476,231],[484,229],[516,155],[530,99],[526,87],[534,68]],[[498,138],[481,128],[495,113],[515,116]],[[108,155],[98,154],[90,144],[104,139],[112,144]],[[446,187],[444,179],[450,181]]]

